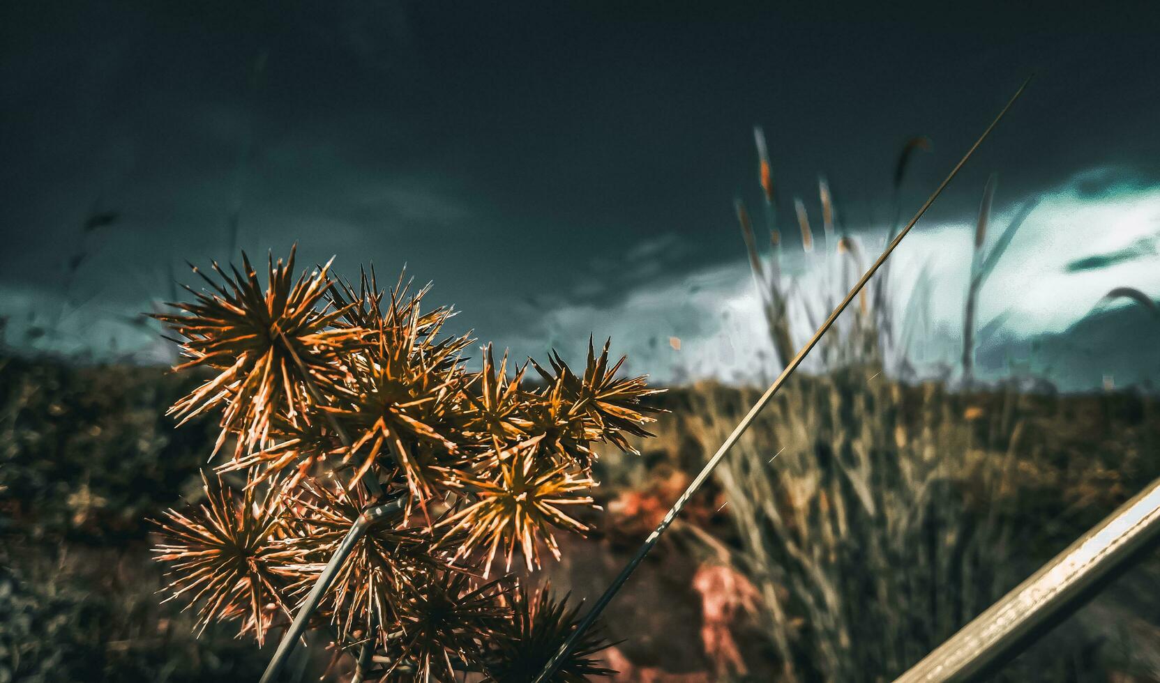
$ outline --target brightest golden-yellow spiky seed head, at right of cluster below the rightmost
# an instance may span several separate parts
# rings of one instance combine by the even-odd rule
[[[581,492],[589,491],[596,482],[577,471],[573,464],[559,465],[553,458],[542,455],[542,441],[543,437],[530,438],[496,453],[481,467],[480,475],[461,478],[462,486],[476,500],[442,524],[466,535],[456,557],[467,555],[477,547],[487,548],[485,577],[490,575],[501,546],[508,569],[517,547],[528,569],[531,569],[534,565],[539,565],[541,543],[559,559],[553,529],[578,533],[588,530],[586,524],[570,517],[561,508],[592,506],[592,496]]]

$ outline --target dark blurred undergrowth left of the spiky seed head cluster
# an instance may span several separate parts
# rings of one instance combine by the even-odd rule
[[[200,495],[212,443],[164,416],[182,382],[0,356],[0,682],[261,674],[252,644],[159,604],[147,519]]]

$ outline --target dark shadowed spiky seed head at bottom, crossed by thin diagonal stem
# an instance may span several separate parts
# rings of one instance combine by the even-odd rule
[[[535,595],[529,595],[521,586],[510,593],[510,597],[513,618],[505,622],[495,638],[488,640],[490,651],[484,667],[486,677],[483,683],[535,680],[580,620],[579,605],[568,606],[570,595],[554,600],[550,586],[544,586]],[[614,674],[592,656],[610,645],[600,622],[596,622],[560,662],[549,681],[583,683],[590,676]]]

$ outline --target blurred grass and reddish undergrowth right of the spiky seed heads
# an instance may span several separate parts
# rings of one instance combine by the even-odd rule
[[[1155,397],[876,375],[800,376],[768,406],[609,610],[624,681],[891,681],[1160,475]],[[661,397],[643,458],[602,463],[606,552],[652,530],[757,391]],[[581,554],[580,587],[618,568]],[[1160,680],[1158,576],[1151,554],[996,680]]]

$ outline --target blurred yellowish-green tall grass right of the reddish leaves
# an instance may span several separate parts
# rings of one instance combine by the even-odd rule
[[[710,448],[756,398],[687,397],[682,431]],[[893,678],[1160,474],[1153,412],[1146,395],[949,392],[875,368],[795,383],[717,472],[731,529],[713,550],[760,595],[756,652],[784,681]],[[1049,641],[1000,677],[1155,674],[1076,628],[1056,638],[1083,656]]]

